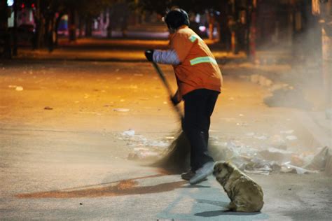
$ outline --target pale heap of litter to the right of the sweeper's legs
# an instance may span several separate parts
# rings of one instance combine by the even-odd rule
[[[234,142],[214,143],[209,150],[215,160],[230,161],[245,173],[269,175],[270,173],[319,173],[328,170],[332,152],[320,148],[317,154],[298,154],[279,148],[258,150]]]

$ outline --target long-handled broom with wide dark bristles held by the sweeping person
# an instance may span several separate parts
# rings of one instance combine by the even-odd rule
[[[170,97],[172,97],[173,92],[170,84],[165,78],[165,74],[161,71],[158,64],[152,62],[152,65],[155,68],[155,71],[158,73],[158,76],[162,80],[162,83],[165,86],[168,94],[170,95]],[[173,108],[179,115],[179,118],[182,122],[184,120],[184,115],[182,114],[181,109],[179,108],[179,106],[176,105],[173,105]],[[162,154],[162,157],[157,162],[154,162],[151,166],[161,167],[167,171],[170,171],[171,173],[181,173],[189,169],[189,156],[191,152],[191,145],[188,141],[188,138],[186,138],[186,134],[184,134],[184,131],[182,131],[182,129],[179,129],[175,137],[176,138],[174,139],[174,141],[172,141],[167,150],[165,150],[165,152]]]

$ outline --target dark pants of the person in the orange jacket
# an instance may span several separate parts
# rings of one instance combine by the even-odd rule
[[[210,116],[219,92],[198,89],[184,96],[184,133],[191,143],[191,169],[196,171],[203,164],[213,162],[207,152]]]

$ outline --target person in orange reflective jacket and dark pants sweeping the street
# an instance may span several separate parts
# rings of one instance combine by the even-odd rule
[[[174,106],[184,101],[182,129],[191,145],[191,169],[181,174],[191,185],[212,174],[214,159],[207,151],[210,117],[221,92],[219,66],[206,43],[191,30],[188,14],[173,8],[164,17],[170,31],[168,50],[146,50],[146,59],[172,64],[178,90],[170,99]]]

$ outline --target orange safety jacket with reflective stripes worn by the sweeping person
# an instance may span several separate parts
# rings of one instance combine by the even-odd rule
[[[174,72],[179,87],[179,99],[196,89],[221,92],[223,77],[207,44],[184,25],[170,36],[170,48],[177,52],[179,65]]]

